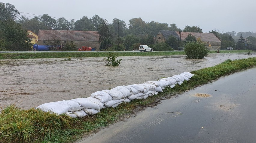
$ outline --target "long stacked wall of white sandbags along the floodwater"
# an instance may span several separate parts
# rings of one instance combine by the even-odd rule
[[[44,103],[36,107],[44,112],[55,113],[57,115],[66,114],[72,118],[82,118],[87,115],[99,113],[102,108],[117,107],[123,102],[131,102],[135,99],[146,99],[148,96],[157,95],[163,92],[166,87],[181,85],[194,74],[184,72],[158,81],[149,81],[142,84],[131,84],[118,86],[111,90],[101,90],[92,93],[87,98],[76,98],[57,102]]]

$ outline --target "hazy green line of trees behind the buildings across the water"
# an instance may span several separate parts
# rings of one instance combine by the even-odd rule
[[[36,34],[39,30],[97,31],[101,42],[100,50],[133,50],[134,47],[137,49],[136,46],[139,44],[147,44],[158,48],[160,43],[158,45],[154,44],[153,38],[160,30],[203,33],[200,26],[197,25],[187,25],[181,29],[174,23],[145,22],[141,18],[130,19],[129,24],[117,18],[108,21],[98,15],[94,15],[92,18],[83,16],[79,20],[74,20],[65,17],[55,19],[48,14],[43,14],[29,19],[26,16],[21,16],[14,5],[3,2],[0,3],[0,20],[0,50],[26,50],[31,47],[30,39],[24,37],[26,30],[34,31]],[[18,29],[20,32],[18,32]],[[220,40],[223,40],[222,47],[236,45],[235,39],[233,39],[233,34],[235,34],[233,31],[222,34],[219,31],[212,30],[209,33],[214,33]],[[255,45],[253,37],[250,37],[250,42]],[[19,44],[17,44],[17,41],[19,41]],[[169,37],[166,43],[160,46],[168,45],[169,47],[154,50],[170,50],[177,47],[176,43],[177,41],[173,37]]]

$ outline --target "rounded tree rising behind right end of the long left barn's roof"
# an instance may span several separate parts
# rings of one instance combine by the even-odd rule
[[[83,16],[82,19],[75,21],[75,30],[79,31],[96,31],[96,27],[93,26],[87,16]]]

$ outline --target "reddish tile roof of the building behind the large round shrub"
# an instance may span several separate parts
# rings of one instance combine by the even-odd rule
[[[176,31],[179,35],[179,32]],[[197,38],[200,38],[204,42],[221,42],[218,37],[216,37],[213,33],[195,33],[195,32],[181,32],[181,40],[184,41],[187,38],[187,35],[191,33]]]

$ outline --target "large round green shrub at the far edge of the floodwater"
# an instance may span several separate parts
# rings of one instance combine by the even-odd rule
[[[202,41],[192,41],[185,44],[184,52],[187,59],[203,59],[208,50]]]

